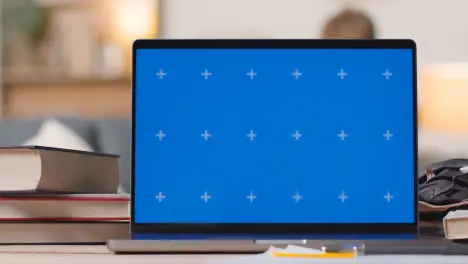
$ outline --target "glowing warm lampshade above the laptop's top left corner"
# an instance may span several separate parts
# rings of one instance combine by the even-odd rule
[[[112,4],[119,38],[133,41],[156,36],[157,0],[114,0]]]

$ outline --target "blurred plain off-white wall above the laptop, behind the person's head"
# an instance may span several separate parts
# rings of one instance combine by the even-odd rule
[[[348,1],[349,2],[349,1]],[[317,38],[342,0],[165,0],[167,38]],[[467,0],[357,1],[381,38],[413,38],[420,61],[468,60]]]

